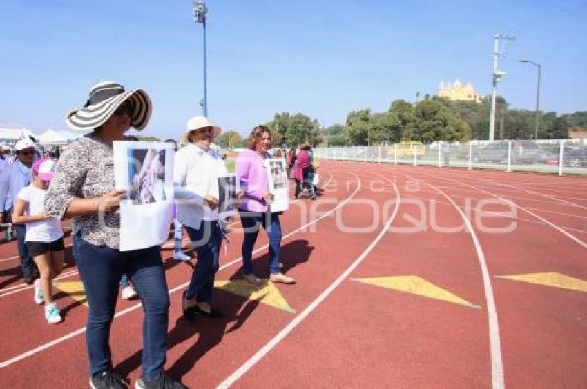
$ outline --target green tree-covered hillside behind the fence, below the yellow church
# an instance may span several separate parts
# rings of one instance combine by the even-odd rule
[[[366,146],[398,141],[469,141],[488,139],[491,99],[450,101],[442,97],[426,97],[416,103],[393,101],[387,112],[369,108],[347,114],[343,125],[320,130],[329,146]],[[503,97],[497,97],[495,139],[533,139],[535,112],[508,108]],[[587,112],[557,117],[555,112],[540,112],[539,139],[566,139],[572,126],[587,128]],[[367,140],[368,138],[368,140]]]

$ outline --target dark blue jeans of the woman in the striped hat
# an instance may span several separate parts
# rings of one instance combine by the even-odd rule
[[[169,321],[169,295],[159,247],[123,252],[95,246],[81,238],[76,245],[77,268],[90,305],[86,326],[90,374],[112,368],[110,325],[118,284],[126,274],[133,282],[145,313],[142,378],[148,381],[159,378],[165,364]]]

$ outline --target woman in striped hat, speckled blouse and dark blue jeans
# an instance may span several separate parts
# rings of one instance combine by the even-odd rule
[[[113,370],[109,344],[123,274],[133,282],[145,312],[143,372],[135,388],[185,388],[163,371],[169,295],[160,248],[119,249],[118,208],[125,192],[115,190],[113,141],[128,140],[124,133],[131,126],[142,130],[150,117],[151,99],[144,90],[125,91],[110,81],[93,86],[84,107],[66,116],[70,128],[92,132],[61,155],[45,196],[48,216],[72,217],[76,226],[75,261],[90,306],[86,345],[92,388],[126,388],[122,376]]]

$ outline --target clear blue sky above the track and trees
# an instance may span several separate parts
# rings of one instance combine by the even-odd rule
[[[514,108],[587,110],[587,1],[208,0],[209,117],[247,133],[276,112],[322,126],[351,110],[435,94],[441,80],[490,94],[493,36],[516,35],[499,84]],[[179,137],[200,114],[202,27],[188,0],[1,0],[0,126],[66,129],[88,88],[144,88],[144,134]]]

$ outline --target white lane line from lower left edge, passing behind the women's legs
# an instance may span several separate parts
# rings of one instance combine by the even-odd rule
[[[361,188],[361,181],[360,178],[355,174],[356,177],[356,181],[357,181],[357,187],[354,190],[354,192],[352,192],[352,194],[349,195],[349,197],[347,197],[345,200],[343,200],[342,202],[338,203],[336,207],[332,208],[331,210],[329,210],[328,212],[326,212],[324,215],[318,217],[318,219],[314,219],[313,221],[309,221],[308,223],[305,223],[303,226],[300,226],[298,229],[289,232],[289,234],[284,235],[282,239],[287,239],[289,237],[291,237],[291,235],[296,234],[297,232],[304,230],[305,228],[311,226],[312,224],[317,223],[318,221],[320,221],[321,219],[324,219],[327,216],[330,216],[333,212],[335,212],[336,210],[338,210],[338,208],[343,207],[346,203],[348,203],[353,197],[356,196],[356,194],[358,193],[358,191]],[[269,247],[269,244],[266,244],[265,246],[262,246],[256,250],[253,251],[253,254],[256,254],[257,252],[260,252],[261,250],[266,249],[267,247]],[[242,257],[239,257],[238,259],[235,259],[234,261],[231,261],[229,263],[225,263],[223,266],[220,266],[220,268],[218,269],[218,271],[220,270],[224,270],[225,268],[228,268],[229,266],[234,265],[235,263],[240,263],[242,261]],[[186,283],[182,283],[181,285],[175,286],[175,288],[172,288],[169,290],[169,295],[171,295],[174,292],[177,292],[177,290],[181,290],[182,288],[185,288],[186,286],[189,285],[189,281]],[[139,307],[141,307],[142,304],[141,303],[137,303],[134,306],[128,307],[124,310],[121,310],[120,312],[117,312],[114,317],[121,317],[122,315],[126,315],[128,312],[131,312],[133,310],[138,309]],[[64,335],[62,337],[59,337],[55,340],[52,340],[48,343],[44,343],[41,344],[41,346],[37,346],[35,348],[32,348],[31,350],[28,350],[26,352],[23,352],[22,354],[19,354],[15,357],[12,357],[10,359],[7,359],[6,361],[3,361],[0,363],[0,369],[2,368],[6,368],[7,366],[12,365],[12,363],[16,363],[18,361],[21,361],[23,359],[26,359],[28,357],[32,357],[32,355],[35,355],[43,350],[46,350],[52,346],[56,346],[57,344],[64,342],[68,339],[71,339],[73,337],[75,337],[76,335],[80,335],[83,334],[84,332],[86,332],[86,327],[82,327],[79,328],[78,330],[75,330],[73,332],[68,333],[67,335]]]

